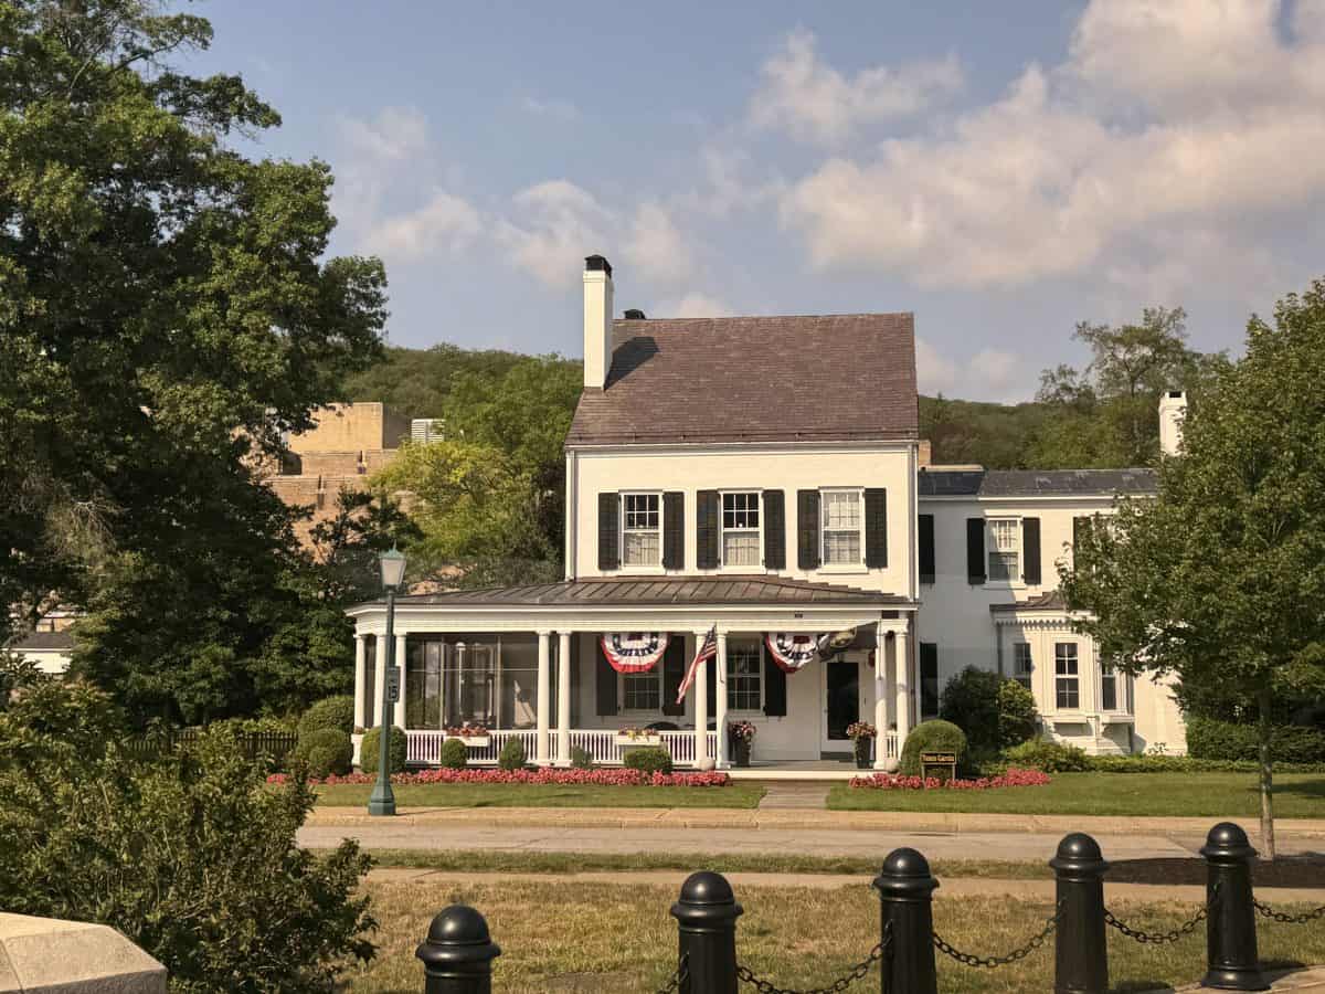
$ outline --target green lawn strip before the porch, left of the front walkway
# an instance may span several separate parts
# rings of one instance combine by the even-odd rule
[[[400,807],[757,807],[763,787],[612,787],[599,783],[421,783],[392,787]],[[370,783],[321,786],[318,803],[359,807]]]

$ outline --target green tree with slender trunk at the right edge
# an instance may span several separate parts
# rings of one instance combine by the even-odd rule
[[[1261,835],[1275,852],[1276,702],[1325,692],[1325,281],[1252,318],[1159,464],[1060,567],[1105,657],[1177,676],[1195,714],[1256,722]]]

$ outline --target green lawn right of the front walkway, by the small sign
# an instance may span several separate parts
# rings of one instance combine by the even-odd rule
[[[1026,815],[1256,818],[1251,773],[1059,773],[1044,787],[853,790],[833,785],[828,807],[848,811],[987,811]],[[1276,818],[1325,818],[1325,774],[1275,777]]]

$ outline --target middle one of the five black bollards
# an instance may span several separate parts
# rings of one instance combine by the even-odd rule
[[[880,897],[880,936],[892,930],[892,954],[884,957],[880,990],[937,994],[934,971],[934,888],[929,860],[916,850],[893,850],[874,877]]]

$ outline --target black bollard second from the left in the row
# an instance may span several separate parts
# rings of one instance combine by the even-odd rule
[[[677,921],[680,994],[737,994],[737,904],[721,873],[690,873],[672,905]]]

